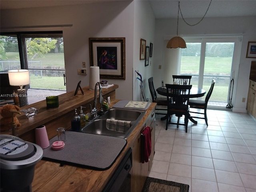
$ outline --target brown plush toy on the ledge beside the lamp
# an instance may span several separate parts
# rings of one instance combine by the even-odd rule
[[[20,108],[19,108],[19,106],[12,105],[12,104],[6,104],[6,105],[0,107],[0,115],[2,116],[2,118],[0,120],[1,131],[8,131],[11,129],[11,122],[12,122],[11,110],[18,112],[20,110]],[[14,116],[13,120],[17,124],[17,127],[21,126],[18,118],[16,117],[16,113],[13,113],[13,116]]]

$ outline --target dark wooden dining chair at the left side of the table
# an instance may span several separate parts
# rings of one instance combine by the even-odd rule
[[[156,110],[166,111],[167,108],[158,107],[158,106],[167,106],[167,100],[166,98],[157,97],[156,90],[154,88],[153,77],[148,78],[148,86],[149,86],[150,94],[152,96],[152,102],[157,103]],[[166,115],[166,113],[159,113],[159,112],[156,112],[156,114]]]

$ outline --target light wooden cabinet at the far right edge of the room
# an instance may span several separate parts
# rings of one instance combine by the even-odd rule
[[[256,82],[250,80],[246,110],[256,118]]]

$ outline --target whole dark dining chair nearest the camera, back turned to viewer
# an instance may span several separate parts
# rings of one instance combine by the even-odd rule
[[[189,94],[192,85],[174,85],[165,84],[167,91],[167,119],[166,119],[166,130],[168,124],[175,124],[177,128],[179,125],[184,125],[186,132],[188,132],[188,117],[189,117]],[[178,121],[172,122],[172,115],[178,117]],[[180,117],[185,116],[184,123],[180,122]]]

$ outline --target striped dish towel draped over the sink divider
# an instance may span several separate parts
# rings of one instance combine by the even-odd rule
[[[125,133],[130,128],[131,121],[107,119],[106,128],[117,132]]]

